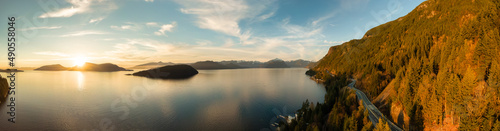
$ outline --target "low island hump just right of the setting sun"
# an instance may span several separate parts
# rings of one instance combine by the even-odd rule
[[[86,62],[83,64],[83,66],[78,67],[71,67],[68,70],[70,71],[99,71],[99,72],[112,72],[112,71],[131,71],[127,70],[123,67],[119,67],[115,64],[111,63],[104,63],[104,64],[94,64],[94,63],[89,63]]]

